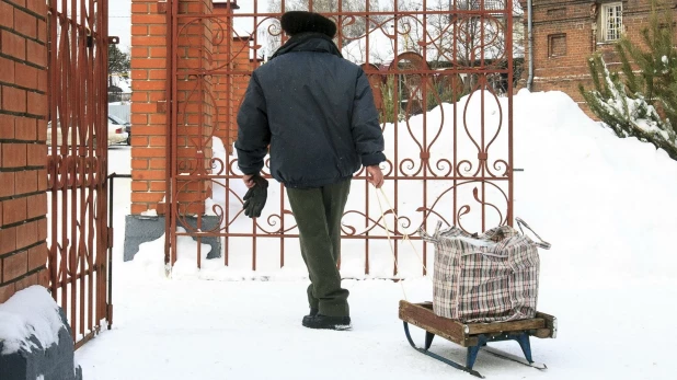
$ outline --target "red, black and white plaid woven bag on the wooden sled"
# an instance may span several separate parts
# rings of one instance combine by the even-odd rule
[[[515,221],[533,232],[521,219]],[[423,240],[435,244],[433,274],[435,314],[468,323],[504,322],[536,315],[538,300],[538,247],[550,244],[509,226],[481,235],[451,227],[434,235],[420,230]]]

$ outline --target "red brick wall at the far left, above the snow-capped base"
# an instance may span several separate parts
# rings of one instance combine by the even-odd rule
[[[0,0],[0,302],[47,286],[47,14]]]

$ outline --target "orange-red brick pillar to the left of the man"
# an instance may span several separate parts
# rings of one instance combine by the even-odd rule
[[[179,14],[210,14],[211,0],[176,0]],[[162,4],[162,5],[160,5]],[[203,96],[194,93],[195,77],[187,77],[177,82],[177,136],[173,141],[167,140],[167,83],[171,80],[167,73],[167,13],[172,2],[157,0],[131,1],[131,214],[137,215],[149,209],[158,209],[158,204],[165,195],[167,145],[177,145],[174,160],[180,172],[195,165],[196,157],[204,157],[200,164],[209,168],[211,141],[206,140],[214,128],[213,119],[216,104],[208,96],[210,80],[203,88]],[[186,19],[179,21],[181,34],[177,36],[179,70],[185,68],[210,68],[211,21],[192,23],[183,28]],[[202,126],[199,129],[198,126]],[[191,160],[193,159],[193,160]],[[184,168],[187,168],[184,170]],[[180,183],[181,187],[182,184]],[[208,194],[208,188],[191,185],[181,191],[180,201],[200,201]],[[202,212],[204,206],[194,206],[190,214]],[[186,211],[183,210],[182,211]]]

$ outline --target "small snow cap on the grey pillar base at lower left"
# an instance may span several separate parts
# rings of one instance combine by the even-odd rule
[[[28,341],[31,336],[37,338],[42,348],[57,344],[62,327],[58,306],[42,286],[20,290],[7,302],[0,303],[2,355],[37,348],[34,342]]]

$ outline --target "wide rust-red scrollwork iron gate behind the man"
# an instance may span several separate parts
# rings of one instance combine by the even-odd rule
[[[172,263],[184,235],[198,242],[219,237],[225,265],[233,265],[237,247],[238,260],[246,251],[254,270],[269,261],[282,267],[285,252],[298,250],[284,187],[271,186],[264,215],[250,221],[241,212],[237,158],[213,154],[213,136],[230,147],[248,80],[286,41],[279,18],[292,3],[302,1],[282,0],[274,11],[256,0],[215,9],[171,2],[167,227]],[[405,8],[393,0],[387,9],[369,0],[358,7],[346,0],[305,3],[302,10],[334,20],[344,58],[368,74],[386,137],[387,199],[377,197],[364,170],[356,173],[351,198],[359,201],[348,204],[343,218],[344,257],[359,252],[364,273],[370,274],[370,256],[390,255],[391,249],[397,260],[412,254],[408,244],[390,246],[390,239],[414,240],[413,251],[427,262],[426,246],[414,235],[418,227],[441,220],[481,232],[512,223],[513,1],[422,0]],[[394,212],[387,210],[388,200]],[[217,222],[208,222],[209,214]],[[198,267],[204,256],[197,244]],[[379,276],[425,274],[425,266],[413,263],[413,272],[393,263]]]

